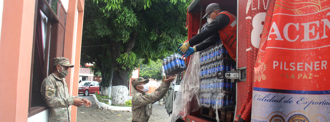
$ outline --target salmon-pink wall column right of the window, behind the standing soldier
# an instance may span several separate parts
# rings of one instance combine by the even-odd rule
[[[78,95],[79,65],[82,38],[83,0],[70,0],[66,18],[64,57],[75,67],[70,69],[66,82],[71,95]],[[78,11],[77,11],[78,10]],[[77,107],[71,106],[71,121],[76,122]]]

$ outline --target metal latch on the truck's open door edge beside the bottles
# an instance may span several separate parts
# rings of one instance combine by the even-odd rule
[[[246,81],[247,67],[238,68],[238,71],[218,71],[216,75],[218,79],[238,79],[239,81]]]

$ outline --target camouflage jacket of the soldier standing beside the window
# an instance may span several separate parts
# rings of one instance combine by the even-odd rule
[[[41,85],[41,94],[49,106],[49,122],[70,122],[73,99],[77,96],[69,94],[64,78],[57,77],[54,73],[46,77]]]

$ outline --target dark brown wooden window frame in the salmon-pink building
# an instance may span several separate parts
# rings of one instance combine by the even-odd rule
[[[49,1],[51,3],[52,0],[49,0]],[[34,63],[34,51],[35,51],[34,48],[35,48],[35,38],[36,38],[35,35],[36,35],[36,25],[37,25],[37,14],[40,11],[42,11],[47,16],[48,21],[49,21],[47,23],[47,30],[46,30],[45,54],[47,54],[47,55],[45,55],[45,57],[44,57],[45,60],[44,60],[43,79],[45,79],[53,71],[53,61],[50,59],[53,57],[63,56],[63,54],[64,54],[64,41],[65,41],[64,36],[65,36],[65,30],[66,30],[65,23],[66,23],[66,16],[67,16],[67,12],[64,9],[64,6],[62,5],[61,1],[58,0],[57,12],[55,14],[46,0],[36,0],[35,15],[34,15],[33,43],[32,43],[31,71],[30,71],[28,117],[31,117],[31,116],[38,114],[49,108],[45,104],[31,107],[32,83],[33,83],[32,76],[33,76],[33,63]],[[64,22],[63,22],[62,18],[58,18],[60,11],[62,14],[65,14]],[[62,20],[59,21],[60,19],[62,19]],[[62,41],[61,41],[61,37],[58,37],[59,27],[62,27],[64,29]],[[59,48],[58,44],[62,44],[62,47]],[[58,54],[58,52],[61,52],[61,53]]]

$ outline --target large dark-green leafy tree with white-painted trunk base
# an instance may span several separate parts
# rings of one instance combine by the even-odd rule
[[[101,86],[128,86],[132,71],[170,55],[186,40],[185,0],[86,0],[81,63],[93,63]],[[113,90],[113,103],[125,99]],[[122,93],[121,93],[122,94]],[[125,94],[126,96],[126,94]],[[126,98],[126,97],[125,97]]]

